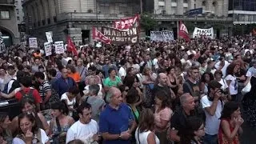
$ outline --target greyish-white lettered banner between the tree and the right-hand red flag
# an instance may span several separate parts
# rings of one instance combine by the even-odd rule
[[[150,31],[150,41],[170,42],[174,40],[173,31]]]

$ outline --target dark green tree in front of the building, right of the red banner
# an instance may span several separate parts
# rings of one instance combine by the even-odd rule
[[[155,26],[157,26],[158,22],[152,18],[151,14],[141,14],[140,20],[142,28],[145,30],[146,35],[150,34],[150,30],[153,30]]]

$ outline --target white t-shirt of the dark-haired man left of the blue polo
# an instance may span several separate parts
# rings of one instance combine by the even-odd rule
[[[74,122],[66,134],[66,143],[74,139],[80,139],[86,142],[87,139],[92,138],[94,134],[98,133],[98,123],[93,119],[88,124],[82,124],[80,120]]]

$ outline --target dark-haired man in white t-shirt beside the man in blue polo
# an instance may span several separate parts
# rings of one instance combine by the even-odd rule
[[[70,127],[66,134],[66,143],[80,139],[85,143],[91,143],[99,140],[98,123],[91,119],[91,106],[87,102],[83,102],[78,106],[78,122]]]

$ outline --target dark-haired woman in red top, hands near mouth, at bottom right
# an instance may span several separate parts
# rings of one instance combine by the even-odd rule
[[[221,116],[221,125],[218,130],[218,144],[239,143],[238,134],[242,134],[240,107],[237,102],[227,102]]]

